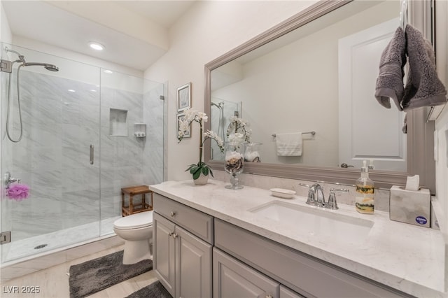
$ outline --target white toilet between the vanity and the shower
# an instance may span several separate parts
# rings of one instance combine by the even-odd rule
[[[125,240],[123,264],[153,260],[153,211],[125,216],[113,222],[113,231]]]

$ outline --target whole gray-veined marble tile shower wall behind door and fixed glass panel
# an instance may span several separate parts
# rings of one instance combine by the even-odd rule
[[[69,89],[76,92],[67,92]],[[144,183],[145,172],[162,176],[163,161],[154,152],[163,151],[157,146],[163,146],[158,141],[163,139],[163,129],[154,129],[147,138],[133,136],[134,122],[147,122],[144,108],[151,108],[151,104],[144,105],[144,98],[154,101],[151,92],[143,96],[107,87],[100,93],[98,89],[96,85],[21,71],[24,136],[20,143],[5,142],[2,148],[4,171],[21,178],[31,190],[29,199],[6,200],[2,206],[8,208],[14,222],[15,240],[94,222],[100,216],[119,216],[121,187]],[[147,114],[163,117],[158,97]],[[128,136],[109,135],[110,108],[127,110]],[[17,123],[14,126],[17,132]],[[90,145],[95,149],[92,165]],[[144,161],[144,152],[154,160]],[[153,165],[153,170],[146,170],[148,165]],[[160,183],[158,176],[151,183]]]

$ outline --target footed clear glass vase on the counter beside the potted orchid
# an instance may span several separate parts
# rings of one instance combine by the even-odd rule
[[[239,190],[243,188],[239,185],[238,175],[244,168],[244,144],[243,143],[225,143],[225,163],[224,169],[230,174],[230,185],[225,188],[230,190]]]

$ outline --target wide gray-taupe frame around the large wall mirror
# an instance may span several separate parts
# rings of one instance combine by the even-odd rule
[[[272,29],[255,36],[246,43],[207,63],[205,65],[205,113],[209,114],[211,111],[211,71],[351,1],[319,1],[306,10],[293,15],[288,20],[272,27]],[[423,31],[425,36],[431,36],[430,22],[428,22],[427,17],[429,2],[409,1],[408,3],[409,23]],[[433,132],[435,130],[435,124],[433,121],[427,122],[426,119],[427,112],[425,108],[416,109],[407,113],[407,172],[371,171],[370,178],[374,180],[376,187],[390,189],[392,185],[405,185],[407,176],[418,174],[420,176],[421,187],[426,187],[430,190],[431,194],[435,194],[435,162],[433,152]],[[210,129],[210,122],[205,123],[205,129]],[[223,171],[224,162],[211,159],[209,142],[204,144],[204,150],[204,161],[212,169]],[[244,173],[346,185],[353,185],[360,175],[359,169],[263,163],[244,164]]]

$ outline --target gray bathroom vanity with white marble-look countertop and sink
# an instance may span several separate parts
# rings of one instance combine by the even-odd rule
[[[153,266],[173,297],[445,297],[439,231],[224,186],[151,185]]]

